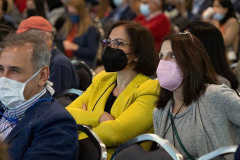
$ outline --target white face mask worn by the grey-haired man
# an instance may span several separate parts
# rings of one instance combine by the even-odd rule
[[[24,83],[6,77],[0,78],[0,101],[2,104],[8,108],[14,108],[24,103],[26,101],[23,94],[25,86],[40,73],[41,69]]]

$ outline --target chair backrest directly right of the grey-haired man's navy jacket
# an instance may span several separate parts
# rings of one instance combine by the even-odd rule
[[[85,125],[78,125],[78,131],[88,136],[86,139],[79,140],[78,160],[106,160],[106,146],[97,134]]]

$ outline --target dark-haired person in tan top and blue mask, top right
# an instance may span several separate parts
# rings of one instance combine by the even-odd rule
[[[239,22],[231,0],[214,0],[213,9],[209,8],[208,11],[207,16],[203,13],[203,20],[211,22],[221,31],[227,59],[229,63],[236,62],[239,47]]]

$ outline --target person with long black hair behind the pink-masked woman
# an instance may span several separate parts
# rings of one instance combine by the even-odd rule
[[[223,36],[219,29],[207,22],[194,21],[188,24],[185,31],[192,33],[203,43],[213,68],[218,74],[218,84],[226,84],[233,90],[237,90],[238,80],[229,68]]]

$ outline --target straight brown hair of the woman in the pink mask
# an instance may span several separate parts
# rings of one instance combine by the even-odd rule
[[[197,101],[205,92],[206,84],[215,84],[216,72],[211,65],[203,44],[190,33],[171,34],[164,41],[169,40],[176,62],[183,73],[183,101],[190,105]],[[173,92],[161,88],[157,108],[164,108],[173,98]]]

